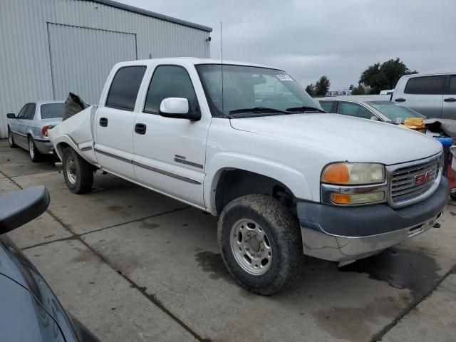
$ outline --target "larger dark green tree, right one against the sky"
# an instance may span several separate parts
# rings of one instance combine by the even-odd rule
[[[399,78],[410,73],[418,73],[418,71],[410,71],[405,63],[399,58],[390,59],[385,63],[375,63],[361,73],[359,84],[368,86],[369,93],[378,94],[380,90],[393,89],[398,83]]]

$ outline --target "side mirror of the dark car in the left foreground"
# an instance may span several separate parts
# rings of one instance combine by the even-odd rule
[[[49,192],[43,185],[0,197],[0,234],[11,232],[43,214],[49,201]]]

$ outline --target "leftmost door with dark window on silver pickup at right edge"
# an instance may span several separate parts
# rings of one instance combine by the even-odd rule
[[[441,118],[444,80],[442,75],[409,78],[404,93],[394,100],[429,118]]]

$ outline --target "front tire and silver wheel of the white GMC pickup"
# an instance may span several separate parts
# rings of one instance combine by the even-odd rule
[[[246,219],[247,221],[244,221]],[[256,251],[252,252],[252,245],[250,242],[246,242],[251,229],[249,228],[247,233],[244,231],[244,237],[242,234],[238,234],[241,230],[236,230],[244,229],[244,226],[239,227],[242,222],[254,222],[252,227],[255,224],[258,225],[255,228],[258,229],[260,236],[257,242],[261,242],[262,239],[263,249],[255,242],[257,248]],[[234,227],[238,228],[235,229]],[[236,233],[233,234],[233,232]],[[261,235],[261,232],[264,232],[264,235]],[[257,235],[254,236],[257,239]],[[253,268],[246,271],[246,264],[242,264],[244,261],[242,259],[238,261],[239,256],[242,257],[242,253],[247,253],[244,255],[247,269],[249,260],[254,261],[254,264],[257,263],[258,261],[249,257],[252,255],[255,257],[259,254],[248,254],[247,248],[250,247],[249,250],[252,253],[258,252],[258,248],[259,251],[266,249],[268,244],[266,244],[264,236],[267,237],[269,251],[271,252],[269,265],[266,263],[269,268],[262,274],[252,274],[256,271],[256,266],[263,266],[262,261],[260,261],[261,265],[252,264]],[[284,286],[289,286],[301,273],[304,254],[298,219],[293,217],[286,207],[272,197],[245,195],[229,202],[220,214],[217,237],[227,269],[234,279],[249,291],[261,295],[274,294],[283,289]],[[242,241],[239,242],[239,238]],[[236,241],[236,239],[238,240]],[[244,244],[243,250],[239,254],[237,254],[236,244],[239,244],[239,251],[241,251],[240,244]]]

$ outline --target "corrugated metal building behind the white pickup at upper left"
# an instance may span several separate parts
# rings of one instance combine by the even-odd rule
[[[25,103],[70,91],[98,103],[118,61],[209,58],[211,31],[110,0],[1,0],[0,138]]]

